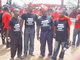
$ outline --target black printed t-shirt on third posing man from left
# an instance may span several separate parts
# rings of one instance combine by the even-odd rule
[[[41,31],[51,31],[53,20],[50,16],[41,16],[38,19],[38,25],[41,27]]]

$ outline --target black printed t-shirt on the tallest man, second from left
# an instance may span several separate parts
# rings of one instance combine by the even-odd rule
[[[35,13],[24,13],[21,18],[25,20],[25,28],[30,27],[34,28],[35,27],[35,21],[37,21],[38,17]]]

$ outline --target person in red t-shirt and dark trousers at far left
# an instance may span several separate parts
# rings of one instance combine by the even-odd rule
[[[8,12],[9,11],[9,9],[8,9],[8,7],[4,7],[4,9],[3,9],[3,11],[4,11],[4,13],[3,13],[3,15],[2,15],[2,22],[3,22],[3,24],[4,24],[4,26],[3,26],[3,30],[4,30],[4,32],[5,32],[5,38],[6,38],[6,47],[8,48],[9,47],[9,39],[8,39],[8,35],[9,35],[9,21],[10,21],[10,19],[11,19],[11,15],[10,15],[10,13]]]

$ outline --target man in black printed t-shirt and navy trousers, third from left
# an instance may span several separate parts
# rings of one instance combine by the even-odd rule
[[[48,16],[47,10],[42,11],[42,16],[38,19],[38,29],[37,29],[37,39],[39,39],[39,30],[40,33],[40,56],[45,56],[45,47],[46,42],[48,44],[49,54],[52,55],[52,43],[53,43],[53,20],[50,16]]]

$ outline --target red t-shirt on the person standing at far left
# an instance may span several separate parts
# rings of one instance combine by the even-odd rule
[[[5,11],[3,13],[3,15],[2,15],[2,21],[4,23],[4,27],[3,27],[4,29],[5,28],[10,28],[9,27],[9,21],[10,21],[10,19],[11,19],[11,15],[9,14],[9,12]]]

